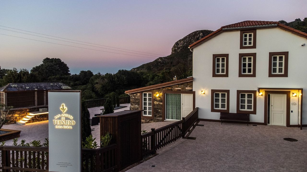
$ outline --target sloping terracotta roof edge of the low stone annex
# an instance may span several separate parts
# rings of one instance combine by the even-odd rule
[[[170,85],[181,84],[181,83],[190,82],[190,81],[193,81],[193,77],[188,77],[188,78],[185,78],[185,79],[182,79],[182,80],[173,80],[173,81],[170,81],[170,82],[150,85],[150,86],[142,87],[142,88],[136,88],[136,89],[133,89],[133,90],[125,91],[125,93],[130,94],[130,93],[135,93],[135,92],[142,92],[142,91],[146,91],[146,90],[152,90],[152,89],[156,89],[156,88],[167,87],[167,86],[170,86]]]

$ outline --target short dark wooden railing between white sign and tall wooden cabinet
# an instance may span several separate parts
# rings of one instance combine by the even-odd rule
[[[117,144],[98,149],[82,149],[83,172],[108,172],[117,169]]]

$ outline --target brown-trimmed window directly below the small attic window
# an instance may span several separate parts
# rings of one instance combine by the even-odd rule
[[[256,77],[256,53],[239,54],[239,77]]]

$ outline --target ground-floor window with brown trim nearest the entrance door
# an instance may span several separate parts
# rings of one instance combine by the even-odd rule
[[[237,113],[256,114],[257,108],[256,90],[237,90]]]

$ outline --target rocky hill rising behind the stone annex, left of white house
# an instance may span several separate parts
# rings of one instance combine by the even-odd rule
[[[173,75],[178,76],[179,79],[188,77],[192,75],[192,52],[188,49],[188,46],[212,32],[210,30],[192,32],[173,45],[170,55],[159,57],[153,62],[140,65],[131,70],[167,73],[166,75],[169,75],[169,78],[172,78],[171,76]]]

